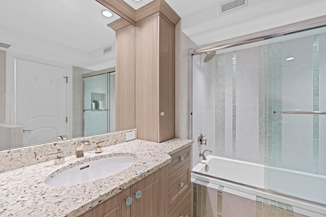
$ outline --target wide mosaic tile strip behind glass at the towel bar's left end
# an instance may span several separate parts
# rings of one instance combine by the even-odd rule
[[[268,45],[268,166],[282,167],[282,42]]]

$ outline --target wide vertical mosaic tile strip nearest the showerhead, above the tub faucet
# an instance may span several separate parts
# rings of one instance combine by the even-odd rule
[[[215,141],[216,155],[225,156],[225,55],[216,56]]]

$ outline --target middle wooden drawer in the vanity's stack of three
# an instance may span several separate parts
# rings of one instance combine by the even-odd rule
[[[169,213],[191,189],[190,161],[169,175],[167,186],[167,208]]]

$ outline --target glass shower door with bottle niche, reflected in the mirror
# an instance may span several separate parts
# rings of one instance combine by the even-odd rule
[[[84,78],[84,136],[115,131],[115,75],[105,73]],[[111,121],[112,117],[112,121]]]

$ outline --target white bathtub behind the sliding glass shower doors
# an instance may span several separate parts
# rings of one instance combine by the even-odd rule
[[[193,168],[193,172],[196,172],[196,174],[192,174],[193,178],[326,214],[326,176],[268,167],[213,155],[208,155],[206,158],[207,160],[202,160]],[[208,166],[207,172],[205,171],[206,166]],[[312,201],[312,203],[274,194],[270,191],[261,191],[257,187],[303,198]]]

